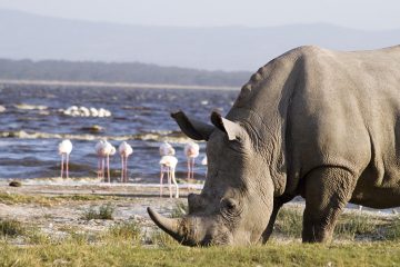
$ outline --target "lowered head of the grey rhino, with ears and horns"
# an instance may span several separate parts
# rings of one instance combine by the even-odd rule
[[[273,185],[246,123],[212,112],[213,126],[171,115],[190,138],[207,140],[208,175],[200,195],[188,197],[189,214],[170,219],[148,208],[151,219],[182,245],[257,243],[272,211]]]

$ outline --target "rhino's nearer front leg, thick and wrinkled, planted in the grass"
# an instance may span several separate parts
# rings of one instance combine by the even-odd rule
[[[356,184],[357,178],[339,167],[321,167],[306,177],[303,243],[332,239],[337,219],[350,200]]]

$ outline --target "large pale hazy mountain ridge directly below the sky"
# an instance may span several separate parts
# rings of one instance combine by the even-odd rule
[[[399,44],[400,29],[362,31],[326,23],[269,28],[152,27],[0,10],[0,58],[146,62],[256,71],[270,59],[302,44],[338,50]]]

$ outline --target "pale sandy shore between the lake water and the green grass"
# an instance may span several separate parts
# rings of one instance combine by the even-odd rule
[[[199,192],[199,189],[192,188],[190,191]],[[151,231],[156,226],[147,214],[147,207],[169,216],[177,204],[187,202],[188,192],[182,186],[180,198],[176,199],[169,198],[167,187],[163,189],[164,197],[160,198],[159,185],[27,181],[21,187],[10,187],[8,181],[2,180],[0,181],[0,219],[16,219],[37,227],[53,238],[62,237],[69,229],[99,233],[129,220],[138,222],[144,231]],[[28,202],[13,202],[2,200],[1,196],[34,198]],[[71,198],[73,196],[81,198],[73,199]],[[49,201],[43,201],[41,197]],[[113,220],[82,218],[91,207],[98,208],[109,202],[114,207]]]

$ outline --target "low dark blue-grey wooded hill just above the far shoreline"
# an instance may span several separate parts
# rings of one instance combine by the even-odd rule
[[[239,87],[246,71],[207,71],[146,63],[70,62],[0,59],[0,80],[98,81],[181,86]]]

